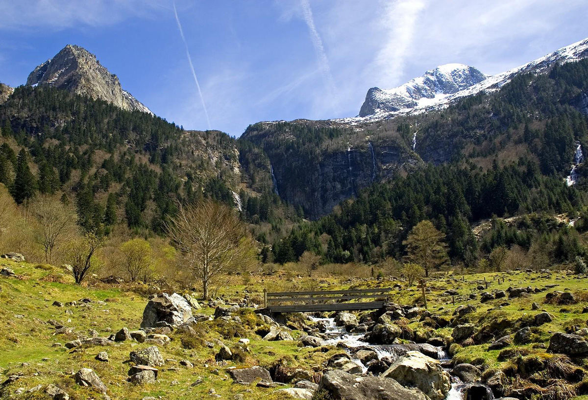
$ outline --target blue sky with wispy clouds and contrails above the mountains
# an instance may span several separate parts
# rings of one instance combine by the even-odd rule
[[[588,37],[585,0],[0,0],[0,81],[66,44],[186,129],[355,116],[373,86],[444,63],[486,74]],[[201,86],[202,98],[186,55]]]

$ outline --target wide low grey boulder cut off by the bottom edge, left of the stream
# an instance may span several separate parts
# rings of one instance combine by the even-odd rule
[[[394,379],[357,377],[338,370],[323,375],[319,391],[332,400],[428,400],[419,389],[407,389]]]

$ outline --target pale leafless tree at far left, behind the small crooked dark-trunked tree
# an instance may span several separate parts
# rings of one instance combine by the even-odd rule
[[[45,262],[51,264],[55,247],[71,237],[75,215],[61,201],[48,196],[39,197],[31,209],[32,216],[39,224],[35,230],[35,241],[45,251]]]

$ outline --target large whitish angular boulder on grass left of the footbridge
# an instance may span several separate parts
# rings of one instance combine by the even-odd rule
[[[192,318],[192,307],[185,298],[177,293],[172,295],[163,293],[161,296],[153,297],[147,303],[143,311],[141,328],[156,327],[161,321],[177,327],[190,318]]]

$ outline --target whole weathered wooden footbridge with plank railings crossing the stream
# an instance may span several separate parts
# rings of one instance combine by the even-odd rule
[[[390,291],[392,288],[275,293],[264,290],[263,307],[267,312],[377,310],[384,307]]]

